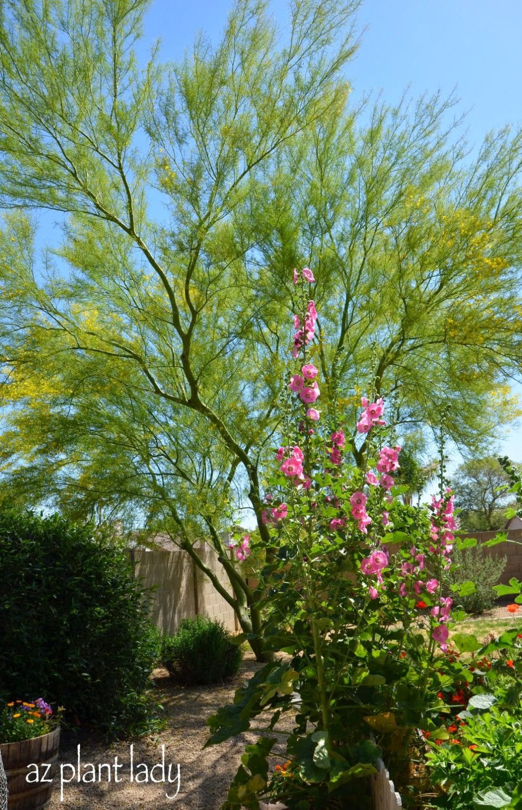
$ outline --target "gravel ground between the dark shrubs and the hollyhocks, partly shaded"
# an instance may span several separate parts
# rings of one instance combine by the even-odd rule
[[[250,678],[259,668],[254,656],[247,653],[239,675],[226,685],[212,687],[182,688],[172,684],[168,672],[155,670],[153,675],[157,684],[157,693],[167,713],[168,725],[155,737],[146,737],[135,741],[133,747],[134,779],[131,782],[131,752],[129,742],[116,744],[93,743],[92,740],[81,743],[82,777],[92,778],[92,763],[96,770],[96,781],[77,782],[77,744],[78,741],[64,740],[60,746],[60,764],[63,764],[63,801],[60,800],[60,768],[54,779],[53,798],[48,810],[153,810],[153,808],[175,808],[175,810],[218,810],[226,798],[229,782],[237,771],[239,758],[244,746],[253,742],[253,735],[244,734],[226,743],[205,748],[208,739],[206,720],[220,706],[233,701],[233,693],[242,681]],[[153,765],[161,762],[161,746],[165,745],[165,783],[151,781]],[[118,756],[118,778],[114,782],[114,757]],[[98,765],[111,765],[111,781],[107,779],[108,769],[101,769],[99,781]],[[143,765],[148,766],[148,782],[136,783],[136,777],[144,778]],[[173,764],[168,784],[169,763]],[[178,763],[180,784],[178,795]],[[76,774],[73,777],[72,767]],[[160,768],[152,776],[161,779]],[[70,783],[65,780],[72,778]]]

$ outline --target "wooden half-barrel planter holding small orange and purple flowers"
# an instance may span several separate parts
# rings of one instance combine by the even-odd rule
[[[53,790],[52,782],[27,782],[26,776],[34,772],[28,765],[38,765],[39,778],[52,779],[56,774],[60,727],[18,743],[2,743],[3,765],[6,770],[9,791],[8,810],[41,810],[47,807]],[[48,770],[43,765],[51,765]]]

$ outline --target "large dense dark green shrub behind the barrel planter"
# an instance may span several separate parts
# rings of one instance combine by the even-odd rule
[[[113,734],[147,725],[156,656],[131,561],[91,525],[0,513],[0,693]]]

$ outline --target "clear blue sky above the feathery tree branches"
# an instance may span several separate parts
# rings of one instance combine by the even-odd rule
[[[231,6],[153,0],[140,55],[159,38],[162,58],[175,60],[201,30],[216,41]],[[270,7],[284,25],[286,2],[272,0]],[[366,0],[358,21],[361,47],[347,69],[354,101],[382,92],[393,104],[404,91],[419,96],[440,88],[449,95],[456,88],[460,109],[468,112],[470,145],[491,129],[522,122],[520,0]],[[498,440],[498,450],[522,459],[522,430],[506,430]]]

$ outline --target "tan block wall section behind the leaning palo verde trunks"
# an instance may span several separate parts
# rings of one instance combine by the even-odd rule
[[[181,549],[148,551],[133,548],[128,553],[135,563],[136,577],[144,587],[154,588],[151,618],[156,627],[174,633],[182,619],[199,614],[223,622],[231,633],[238,629],[229,603],[186,552]],[[205,565],[216,573],[220,583],[231,592],[229,579],[217,561],[214,549],[205,544],[198,553]]]

